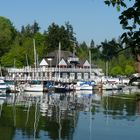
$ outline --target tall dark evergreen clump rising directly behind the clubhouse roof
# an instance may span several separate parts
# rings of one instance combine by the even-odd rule
[[[53,51],[58,49],[58,44],[61,42],[62,50],[72,51],[74,43],[77,44],[75,33],[72,25],[69,22],[65,23],[65,26],[52,23],[48,27],[48,31],[45,33],[47,51]]]

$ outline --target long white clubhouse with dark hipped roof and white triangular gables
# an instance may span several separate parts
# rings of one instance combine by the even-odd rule
[[[55,50],[43,58],[37,68],[8,69],[7,77],[31,80],[73,81],[93,79],[103,75],[102,70],[91,65],[88,60],[80,60],[69,51]]]

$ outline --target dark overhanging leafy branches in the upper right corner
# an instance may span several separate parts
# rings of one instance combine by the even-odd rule
[[[125,30],[121,35],[121,42],[126,44],[123,49],[131,48],[135,60],[140,63],[140,0],[129,1],[130,6],[124,0],[105,0],[105,3],[117,7],[118,11],[124,7],[119,16],[120,24]]]

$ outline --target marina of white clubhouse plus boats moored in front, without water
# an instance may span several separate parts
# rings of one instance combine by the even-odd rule
[[[129,84],[127,77],[104,76],[102,69],[91,64],[89,60],[81,60],[70,51],[59,49],[48,53],[40,63],[37,63],[35,40],[34,44],[34,66],[23,68],[5,68],[4,79],[13,82],[14,92],[66,92],[75,90],[121,90]],[[11,87],[11,85],[9,85]]]

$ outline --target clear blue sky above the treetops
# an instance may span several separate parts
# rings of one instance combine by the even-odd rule
[[[123,32],[119,14],[103,0],[0,0],[0,16],[9,18],[17,29],[35,20],[41,31],[52,22],[64,25],[69,21],[79,42],[93,39],[95,44]]]

